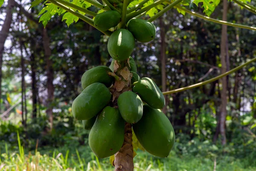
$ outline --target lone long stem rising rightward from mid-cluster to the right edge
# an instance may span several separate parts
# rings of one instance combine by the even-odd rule
[[[195,87],[200,87],[200,86],[203,86],[205,84],[209,84],[209,83],[211,83],[213,81],[216,81],[216,80],[218,80],[218,79],[220,79],[220,78],[222,78],[224,76],[227,76],[227,75],[229,75],[231,73],[234,73],[237,70],[240,70],[242,67],[245,67],[245,66],[247,66],[248,64],[250,64],[252,62],[256,62],[256,58],[254,58],[254,59],[252,59],[252,60],[250,60],[248,62],[245,62],[244,64],[241,64],[240,66],[235,67],[234,69],[229,70],[226,73],[223,73],[223,74],[221,74],[219,76],[216,76],[214,78],[211,78],[209,80],[206,80],[206,81],[203,81],[203,82],[200,82],[200,83],[197,83],[197,84],[193,84],[193,85],[190,85],[190,86],[187,86],[187,87],[183,87],[183,88],[179,88],[179,89],[163,92],[163,95],[172,94],[172,93],[178,93],[178,92],[189,90],[189,89],[192,89],[192,88],[195,88]]]

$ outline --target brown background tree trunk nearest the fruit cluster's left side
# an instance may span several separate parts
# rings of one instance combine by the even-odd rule
[[[47,29],[44,28],[43,29],[43,45],[44,45],[44,58],[46,61],[46,65],[47,65],[47,116],[48,116],[48,120],[50,123],[50,127],[49,130],[47,131],[51,131],[52,130],[52,126],[53,126],[53,115],[52,115],[52,101],[54,98],[54,86],[53,86],[53,68],[52,68],[52,60],[50,59],[50,56],[52,54],[52,51],[50,49],[50,39],[49,36],[47,34]]]

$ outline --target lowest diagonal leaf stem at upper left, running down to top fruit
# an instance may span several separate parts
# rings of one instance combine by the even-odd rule
[[[81,20],[84,20],[85,22],[87,22],[88,24],[90,24],[91,26],[95,27],[94,26],[94,23],[93,23],[93,20],[89,17],[86,17],[84,16],[83,14],[77,12],[77,11],[74,11],[73,9],[67,7],[67,6],[64,6],[63,4],[57,2],[56,0],[48,0],[50,3],[53,3],[54,5],[64,9],[65,11],[68,11],[70,12],[71,14],[75,15],[76,17],[79,17]],[[107,36],[110,36],[111,35],[111,31],[101,31],[102,33],[104,33],[105,35]]]

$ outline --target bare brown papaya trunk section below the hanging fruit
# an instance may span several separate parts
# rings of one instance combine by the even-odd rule
[[[115,154],[115,171],[133,171],[133,146],[131,123],[125,123],[125,140],[122,148]]]

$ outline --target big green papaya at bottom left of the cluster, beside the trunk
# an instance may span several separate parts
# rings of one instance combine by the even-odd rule
[[[124,142],[125,121],[119,110],[105,107],[98,115],[89,134],[89,146],[99,158],[112,156]]]

